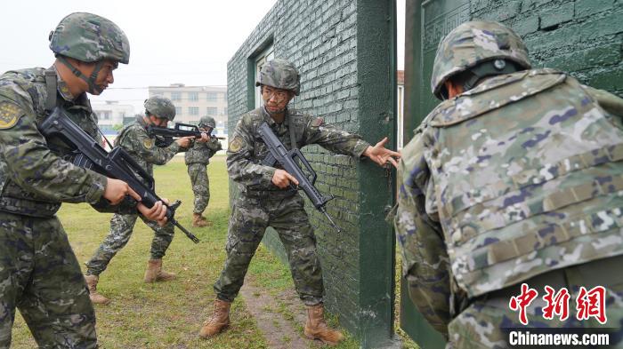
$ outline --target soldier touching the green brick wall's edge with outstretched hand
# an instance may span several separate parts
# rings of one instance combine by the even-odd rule
[[[260,71],[256,85],[262,88],[264,107],[243,115],[227,150],[227,171],[239,183],[240,195],[234,202],[225,250],[227,260],[223,272],[214,284],[216,299],[214,314],[201,329],[201,337],[211,337],[230,323],[230,305],[238,295],[247,274],[247,267],[262,241],[267,226],[277,230],[287,251],[295,289],[307,305],[304,333],[335,345],[343,336],[329,329],[323,317],[322,272],[316,253],[316,238],[303,197],[289,188],[296,179],[282,169],[261,164],[268,148],[261,141],[258,127],[268,123],[287,149],[318,144],[333,152],[369,157],[383,166],[397,164],[392,156],[398,153],[385,149],[387,138],[375,147],[360,136],[323,123],[321,118],[304,115],[287,108],[287,103],[299,94],[300,76],[287,60],[273,59]]]

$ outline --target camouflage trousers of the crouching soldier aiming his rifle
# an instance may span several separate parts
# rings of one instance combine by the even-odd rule
[[[106,270],[110,260],[130,241],[134,224],[139,217],[155,233],[154,239],[151,241],[151,259],[160,259],[165,256],[166,249],[173,241],[173,224],[167,223],[165,226],[158,226],[156,222],[139,214],[120,215],[116,213],[110,219],[109,234],[93,253],[93,257],[85,263],[87,275],[99,275]]]

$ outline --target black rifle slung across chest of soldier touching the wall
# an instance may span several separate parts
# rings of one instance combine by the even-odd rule
[[[266,147],[271,152],[267,155],[262,164],[264,166],[274,167],[276,163],[279,163],[281,167],[287,173],[291,174],[298,180],[298,187],[292,186],[294,189],[302,189],[303,192],[307,195],[307,197],[312,201],[313,206],[316,210],[320,210],[322,214],[327,217],[328,222],[333,226],[337,233],[340,233],[342,230],[336,223],[331,219],[331,216],[328,215],[327,208],[325,205],[329,200],[333,200],[334,197],[332,195],[325,196],[320,194],[318,189],[314,184],[316,183],[316,171],[313,171],[312,165],[307,162],[307,159],[303,156],[303,153],[297,148],[291,149],[290,151],[286,150],[286,147],[281,143],[281,141],[275,136],[275,133],[271,130],[271,127],[268,123],[262,123],[260,128],[258,129],[260,133],[260,137],[262,137]],[[310,173],[311,178],[307,177],[303,170],[296,163],[296,159],[300,160],[303,163],[305,169]]]

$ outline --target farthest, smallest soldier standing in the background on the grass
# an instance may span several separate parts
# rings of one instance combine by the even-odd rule
[[[206,131],[206,127],[214,130],[216,122],[213,117],[204,116],[199,120],[199,130]],[[217,151],[223,149],[218,139],[210,139],[209,142],[197,142],[186,152],[184,160],[188,165],[188,175],[192,185],[192,193],[195,194],[195,208],[192,211],[192,226],[208,226],[212,223],[203,217],[207,202],[210,201],[210,180],[207,178],[206,166],[210,158]]]

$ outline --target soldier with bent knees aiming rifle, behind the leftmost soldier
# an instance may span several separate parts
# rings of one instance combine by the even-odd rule
[[[166,123],[173,121],[174,117],[175,107],[171,100],[159,96],[151,97],[145,100],[145,115],[137,116],[135,123],[125,126],[119,132],[115,139],[115,146],[124,148],[136,163],[141,165],[150,176],[153,176],[154,164],[164,165],[175,154],[190,147],[190,144],[194,141],[194,138],[184,137],[175,139],[168,147],[156,146],[156,139],[150,137],[147,127],[152,124],[166,127]],[[204,138],[201,140],[205,142],[207,136],[204,136]],[[136,218],[139,218],[139,215],[136,213],[113,215],[110,219],[109,234],[101,242],[93,257],[86,262],[85,279],[89,286],[89,295],[93,303],[109,303],[109,298],[102,296],[97,291],[99,275],[106,270],[110,260],[130,240]],[[165,256],[166,249],[173,241],[174,225],[167,223],[165,226],[159,226],[152,221],[141,218],[155,233],[154,240],[151,242],[151,259],[147,264],[144,282],[171,281],[175,278],[175,274],[162,270],[162,258]]]

